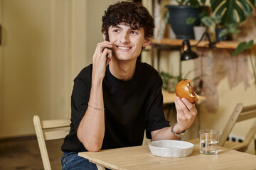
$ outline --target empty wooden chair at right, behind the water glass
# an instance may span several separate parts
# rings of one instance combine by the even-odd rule
[[[252,124],[252,127],[250,128],[249,132],[247,132],[245,140],[243,140],[242,142],[227,141],[227,138],[231,130],[233,129],[235,123],[252,118],[256,118],[256,105],[243,106],[242,103],[238,103],[237,106],[235,106],[235,109],[232,115],[230,116],[227,125],[225,125],[222,134],[220,135],[219,145],[221,147],[226,147],[241,152],[245,152],[256,133],[256,120]]]

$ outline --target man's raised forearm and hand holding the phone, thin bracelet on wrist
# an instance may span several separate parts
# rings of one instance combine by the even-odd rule
[[[92,57],[92,86],[87,111],[78,127],[78,139],[88,151],[97,152],[102,147],[105,135],[105,111],[102,81],[106,66],[110,62],[107,54],[112,57],[112,42],[104,41],[97,44]]]

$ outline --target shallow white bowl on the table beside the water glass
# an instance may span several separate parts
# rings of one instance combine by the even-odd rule
[[[151,154],[159,157],[188,157],[194,145],[181,140],[157,140],[149,142]]]

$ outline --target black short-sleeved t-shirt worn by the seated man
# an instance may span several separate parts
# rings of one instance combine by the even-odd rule
[[[76,132],[87,110],[91,81],[92,64],[74,80],[70,133],[61,147],[63,152],[87,151]],[[105,107],[102,149],[142,145],[144,130],[146,137],[151,138],[151,131],[169,126],[164,118],[161,85],[161,77],[149,64],[137,62],[134,76],[128,81],[114,77],[107,66],[102,83]]]

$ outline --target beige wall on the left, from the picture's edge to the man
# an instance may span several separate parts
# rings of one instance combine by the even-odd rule
[[[33,115],[70,117],[73,79],[91,63],[113,2],[0,0],[0,137],[34,134]]]

